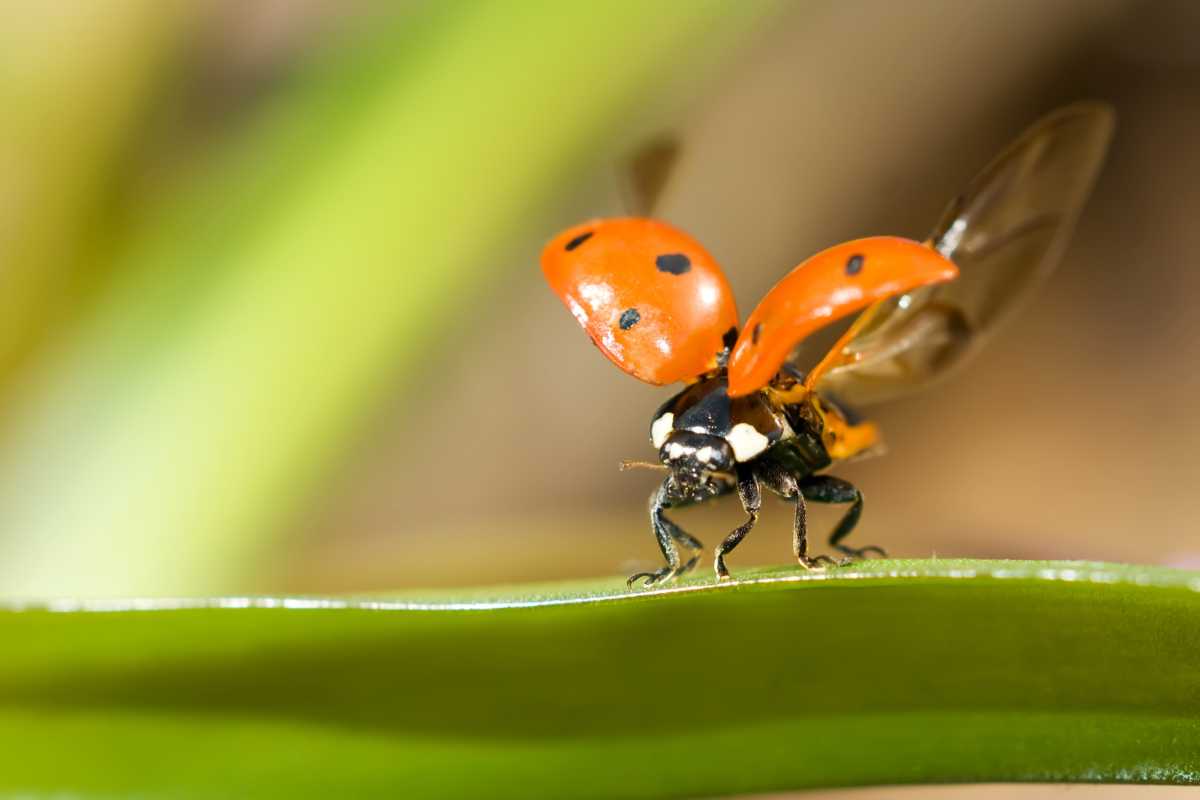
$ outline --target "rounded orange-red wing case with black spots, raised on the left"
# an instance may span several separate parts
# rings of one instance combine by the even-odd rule
[[[665,222],[593,219],[552,239],[541,269],[592,341],[650,384],[692,380],[732,347],[738,312],[700,242]]]

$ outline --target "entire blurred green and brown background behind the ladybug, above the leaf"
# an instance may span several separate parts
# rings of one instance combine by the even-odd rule
[[[1027,124],[1118,114],[1061,270],[841,475],[907,557],[1200,566],[1200,5],[16,2],[0,24],[0,594],[377,591],[658,553],[649,415],[545,288],[658,215],[743,313],[922,237]],[[814,510],[816,531],[834,511]],[[680,512],[707,542],[736,501]],[[731,565],[790,557],[768,503]]]

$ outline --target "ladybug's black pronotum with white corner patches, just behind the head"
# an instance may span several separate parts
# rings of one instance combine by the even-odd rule
[[[720,437],[738,463],[752,461],[794,435],[787,417],[766,395],[731,398],[724,374],[700,380],[664,403],[650,425],[650,443],[661,447],[673,431]]]

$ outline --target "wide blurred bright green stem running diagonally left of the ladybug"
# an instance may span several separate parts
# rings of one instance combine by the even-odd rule
[[[397,367],[469,324],[456,297],[522,215],[770,5],[431,4],[311,76],[35,375],[0,451],[2,591],[244,587]]]

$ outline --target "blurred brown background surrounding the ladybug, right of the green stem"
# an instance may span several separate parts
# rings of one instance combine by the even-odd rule
[[[1198,35],[1188,1],[794,4],[678,120],[683,162],[659,213],[721,260],[746,314],[822,247],[924,235],[1051,108],[1117,109],[1058,273],[967,369],[876,410],[886,457],[840,470],[866,497],[860,543],[1200,566]],[[536,265],[557,229],[620,212],[611,168],[580,163],[497,255],[504,281],[444,320],[419,384],[395,386],[272,583],[493,583],[655,561],[655,477],[616,464],[652,456],[649,415],[670,390],[601,359]],[[815,530],[833,513],[816,510]],[[728,501],[678,518],[714,543],[739,516]],[[788,548],[788,513],[772,504],[733,564]]]

